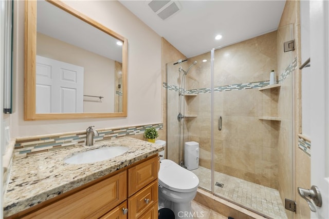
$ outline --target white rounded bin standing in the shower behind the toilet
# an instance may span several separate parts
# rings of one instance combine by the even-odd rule
[[[199,143],[186,142],[184,149],[184,165],[188,170],[199,168]]]

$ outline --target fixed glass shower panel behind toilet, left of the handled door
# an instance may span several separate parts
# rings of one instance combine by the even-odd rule
[[[196,62],[196,63],[195,63]],[[194,65],[193,65],[194,64]],[[168,158],[185,166],[185,143],[199,144],[200,187],[211,191],[210,52],[167,64]],[[179,120],[180,119],[180,120]]]

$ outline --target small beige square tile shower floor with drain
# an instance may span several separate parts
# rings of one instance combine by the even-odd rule
[[[199,178],[199,187],[211,191],[211,171],[199,166],[192,170]],[[216,195],[273,218],[287,218],[279,191],[240,178],[215,172],[214,180],[224,184],[214,186]]]

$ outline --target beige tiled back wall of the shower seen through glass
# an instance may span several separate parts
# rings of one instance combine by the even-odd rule
[[[200,143],[201,166],[211,166],[213,124],[215,171],[272,188],[278,187],[280,122],[259,120],[259,116],[277,116],[278,91],[264,95],[258,88],[268,84],[270,71],[277,69],[276,39],[274,31],[215,50],[213,123],[210,93],[202,91],[211,87],[210,54],[189,58],[198,64],[189,73],[188,90],[200,92],[188,102],[188,110],[197,117],[186,121],[189,140]],[[203,59],[209,62],[203,63]],[[220,115],[222,131],[217,130]]]

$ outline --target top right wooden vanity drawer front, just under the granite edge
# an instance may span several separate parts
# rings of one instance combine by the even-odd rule
[[[158,165],[158,157],[155,156],[128,169],[129,196],[158,178]]]

